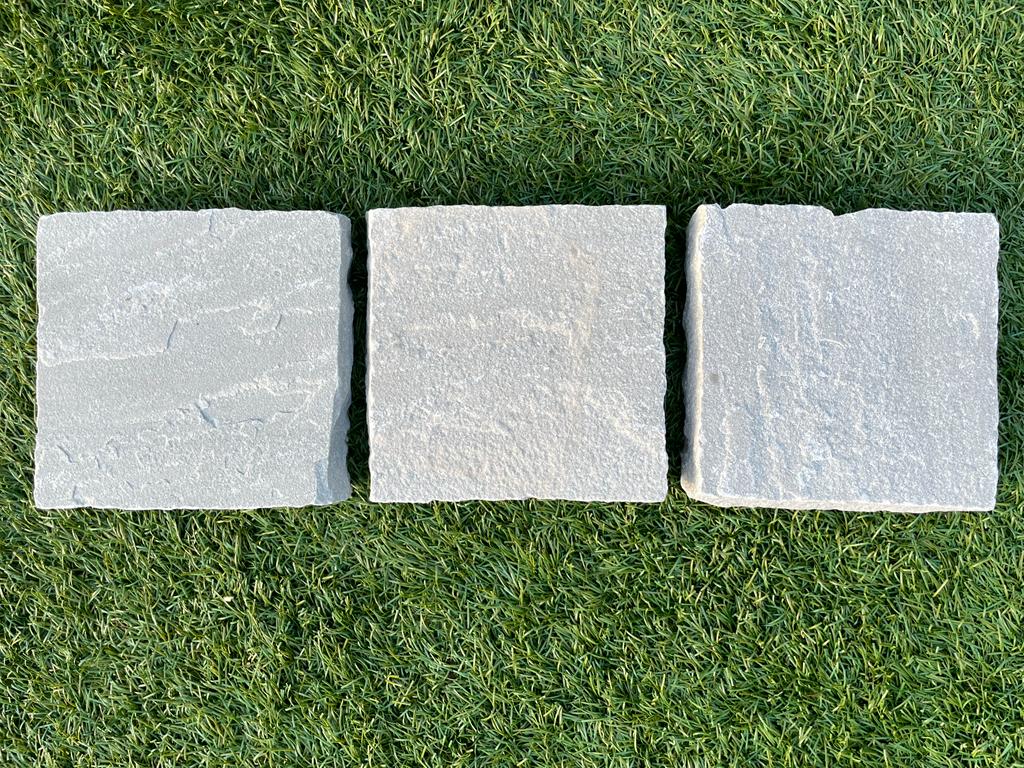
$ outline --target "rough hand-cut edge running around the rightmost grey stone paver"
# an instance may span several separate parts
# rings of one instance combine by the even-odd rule
[[[996,249],[993,254],[992,263],[992,273],[995,275],[995,264],[998,260],[998,242],[999,242],[999,222],[996,216],[992,213],[981,213],[981,212],[957,212],[957,211],[894,211],[893,209],[885,208],[865,208],[859,211],[852,211],[850,213],[840,214],[837,216],[831,210],[824,208],[823,206],[807,206],[807,205],[753,205],[746,203],[736,203],[730,206],[722,208],[718,204],[703,204],[697,207],[690,217],[689,224],[687,226],[687,237],[686,237],[686,259],[685,259],[685,272],[686,272],[686,305],[683,310],[684,325],[686,327],[686,370],[685,370],[685,382],[686,382],[686,404],[685,404],[685,430],[684,430],[684,451],[682,454],[682,474],[680,478],[683,490],[691,499],[699,502],[705,502],[707,504],[712,504],[718,507],[762,507],[762,508],[772,508],[772,509],[792,509],[792,510],[837,510],[837,511],[849,511],[849,512],[903,512],[910,514],[921,514],[928,512],[990,512],[995,508],[996,504],[996,494],[998,490],[998,466],[996,464],[994,472],[992,475],[991,485],[986,494],[985,502],[980,506],[973,505],[948,505],[948,504],[927,504],[927,503],[914,503],[914,502],[898,502],[898,501],[881,501],[881,500],[870,500],[870,501],[856,501],[856,500],[822,500],[822,499],[767,499],[761,497],[738,497],[738,496],[721,496],[717,494],[708,493],[703,489],[703,478],[700,474],[700,425],[701,425],[701,411],[702,411],[702,397],[703,389],[699,385],[702,380],[702,364],[703,364],[703,335],[702,335],[702,317],[703,317],[703,293],[701,285],[701,263],[698,258],[698,246],[700,236],[703,232],[705,225],[708,221],[709,211],[715,211],[718,215],[722,215],[726,210],[732,207],[740,208],[788,208],[788,209],[806,209],[813,211],[821,216],[825,216],[833,219],[839,218],[856,218],[862,215],[870,215],[879,211],[886,213],[906,213],[915,215],[925,215],[932,217],[942,217],[948,216],[950,214],[957,216],[976,216],[986,220],[986,223],[993,230],[992,238],[996,243]],[[993,286],[993,293],[996,303],[996,309],[998,308],[998,294],[999,286],[998,280],[995,278],[995,285]],[[998,347],[998,325],[996,321],[995,333],[992,335],[992,343],[990,348],[987,350],[987,356],[992,361],[992,367],[997,371],[997,347]],[[996,392],[995,398],[995,414],[993,416],[993,422],[996,425],[996,429],[993,431],[992,440],[995,443],[995,450],[993,454],[996,456],[996,462],[998,461],[998,393]]]

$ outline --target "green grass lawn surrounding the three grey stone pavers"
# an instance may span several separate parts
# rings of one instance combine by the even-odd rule
[[[1011,2],[0,3],[0,764],[1024,764],[1024,19]],[[37,511],[57,210],[993,211],[990,514]]]

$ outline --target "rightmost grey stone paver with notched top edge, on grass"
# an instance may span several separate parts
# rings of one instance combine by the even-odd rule
[[[703,206],[683,486],[723,506],[988,510],[993,216]]]

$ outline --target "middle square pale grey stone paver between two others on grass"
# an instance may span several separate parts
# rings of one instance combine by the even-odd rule
[[[664,500],[664,207],[368,219],[371,499]]]

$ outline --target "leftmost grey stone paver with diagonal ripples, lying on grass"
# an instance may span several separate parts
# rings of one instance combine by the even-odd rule
[[[348,219],[63,213],[37,246],[39,507],[348,496]]]

